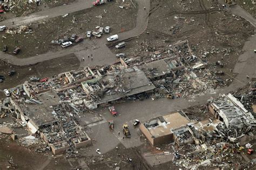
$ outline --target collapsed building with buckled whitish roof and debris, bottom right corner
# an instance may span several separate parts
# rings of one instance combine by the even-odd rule
[[[185,155],[174,164],[189,169],[252,166],[255,159],[248,155],[253,153],[253,147],[246,143],[255,137],[256,121],[252,114],[231,94],[209,100],[207,107],[217,119],[190,123],[186,133],[177,134],[179,150]],[[246,162],[241,162],[242,158]]]

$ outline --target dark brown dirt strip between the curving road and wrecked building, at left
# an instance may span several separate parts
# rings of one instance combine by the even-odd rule
[[[29,80],[31,76],[37,77],[51,77],[58,75],[59,73],[76,70],[79,68],[79,60],[74,54],[70,54],[59,58],[37,63],[32,66],[14,66],[3,61],[0,61],[0,73],[5,76],[4,82],[0,83],[0,89],[15,87],[18,84]],[[16,74],[13,76],[8,76],[10,70],[15,70]],[[4,97],[4,94],[0,93],[0,98]]]

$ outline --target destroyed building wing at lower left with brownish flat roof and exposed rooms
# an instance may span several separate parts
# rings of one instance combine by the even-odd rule
[[[16,93],[16,97],[10,99],[15,117],[21,118],[31,133],[39,134],[53,154],[91,144],[91,139],[72,115],[73,108],[60,104],[56,91],[46,91],[32,98],[29,96],[31,94],[26,95],[21,89],[20,95]]]

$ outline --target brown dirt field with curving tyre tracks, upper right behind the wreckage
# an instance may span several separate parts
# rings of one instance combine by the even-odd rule
[[[215,1],[152,1],[147,30],[127,42],[125,48],[112,51],[126,53],[129,58],[150,56],[175,42],[188,40],[194,55],[207,62],[206,69],[213,73],[223,70],[227,74],[221,78],[232,79],[232,69],[253,26],[219,9],[221,5]],[[209,54],[204,56],[205,52]],[[218,60],[224,63],[224,68],[215,65]]]

